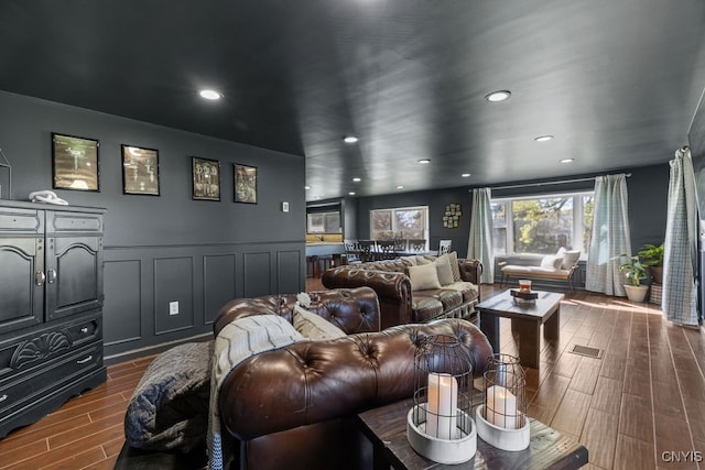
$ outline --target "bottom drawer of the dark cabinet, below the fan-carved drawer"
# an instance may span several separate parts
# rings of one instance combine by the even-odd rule
[[[0,381],[0,424],[102,367],[102,341],[61,356],[41,369]]]

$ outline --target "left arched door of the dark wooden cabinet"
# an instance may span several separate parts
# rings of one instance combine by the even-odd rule
[[[43,275],[42,244],[35,238],[0,238],[0,334],[43,319],[44,287],[34,281],[35,273]]]

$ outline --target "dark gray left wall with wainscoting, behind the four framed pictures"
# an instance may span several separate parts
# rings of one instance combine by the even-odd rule
[[[13,199],[52,188],[52,132],[100,141],[100,192],[55,192],[108,209],[107,357],[208,335],[231,298],[305,288],[303,157],[0,91]],[[159,150],[161,196],[122,194],[121,144]],[[192,199],[192,156],[220,162],[220,201]],[[257,166],[258,204],[232,201],[232,163]]]

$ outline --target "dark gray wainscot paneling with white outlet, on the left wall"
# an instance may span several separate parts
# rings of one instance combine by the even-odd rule
[[[232,298],[301,292],[304,249],[302,241],[106,247],[106,360],[212,336]]]

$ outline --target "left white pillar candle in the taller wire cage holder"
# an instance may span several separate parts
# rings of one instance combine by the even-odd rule
[[[451,374],[429,374],[426,434],[438,439],[455,439],[458,383]]]

